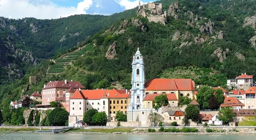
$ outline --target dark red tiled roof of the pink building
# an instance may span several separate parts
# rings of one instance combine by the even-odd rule
[[[86,89],[78,81],[67,81],[67,84],[65,83],[65,81],[51,81],[51,82],[48,82],[46,87],[42,88],[42,89],[50,89],[50,88],[66,88],[66,89],[70,89],[70,88],[78,89],[78,88],[80,88],[80,89]]]

